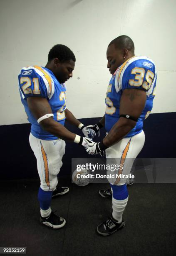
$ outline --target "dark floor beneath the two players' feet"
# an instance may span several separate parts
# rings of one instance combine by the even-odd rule
[[[61,230],[39,222],[38,180],[3,181],[0,191],[0,246],[27,247],[27,255],[175,255],[176,185],[133,184],[124,212],[125,227],[112,236],[97,235],[96,227],[112,211],[112,202],[98,190],[108,184],[78,187],[54,198],[52,208],[66,218]]]

